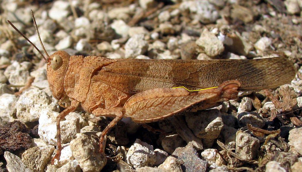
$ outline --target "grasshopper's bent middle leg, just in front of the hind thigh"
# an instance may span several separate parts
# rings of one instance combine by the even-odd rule
[[[105,135],[111,130],[114,125],[119,122],[123,116],[124,116],[124,108],[110,108],[110,109],[102,109],[97,108],[92,111],[92,114],[94,114],[96,117],[98,116],[107,116],[107,117],[115,117],[108,125],[107,127],[102,131],[100,140],[99,140],[99,146],[100,146],[100,152],[103,153],[105,149],[105,143],[104,137]]]

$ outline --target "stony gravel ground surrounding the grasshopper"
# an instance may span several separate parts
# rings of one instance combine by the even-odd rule
[[[301,0],[3,0],[0,7],[0,171],[300,171],[302,168]],[[61,122],[31,12],[48,52],[139,59],[286,57],[295,79],[274,90],[241,92],[215,109],[150,123],[82,109]],[[197,121],[197,122],[196,122]],[[251,124],[251,125],[250,125]],[[151,129],[152,130],[152,129]]]

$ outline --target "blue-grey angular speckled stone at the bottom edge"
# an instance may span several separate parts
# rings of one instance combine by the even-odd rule
[[[176,148],[172,155],[177,156],[178,161],[183,161],[186,171],[203,171],[207,170],[207,161],[198,157],[196,150],[191,146]]]

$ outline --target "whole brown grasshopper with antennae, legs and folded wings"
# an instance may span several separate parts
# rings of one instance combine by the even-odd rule
[[[34,15],[32,15],[34,20]],[[8,21],[9,22],[9,21]],[[11,22],[9,22],[11,24]],[[34,20],[37,34],[37,24]],[[12,25],[12,24],[11,24]],[[12,27],[18,31],[17,28]],[[18,31],[27,41],[24,34]],[[30,42],[30,41],[29,41]],[[31,43],[31,42],[30,42]],[[33,43],[31,43],[36,47]],[[99,140],[123,117],[137,123],[155,122],[189,109],[208,109],[235,99],[239,91],[274,88],[295,76],[286,58],[255,60],[141,60],[70,56],[58,51],[47,60],[47,80],[59,105],[57,152],[60,157],[60,121],[79,105],[95,116],[114,117]],[[190,92],[187,89],[204,89]],[[52,160],[52,162],[53,162]]]

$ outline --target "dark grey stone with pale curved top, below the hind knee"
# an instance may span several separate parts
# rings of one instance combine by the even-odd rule
[[[240,127],[245,127],[246,124],[252,124],[254,127],[262,128],[265,122],[256,112],[242,112],[238,115],[238,124]]]

